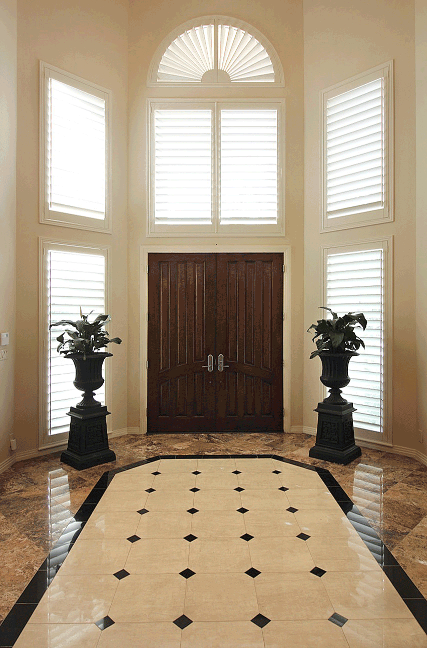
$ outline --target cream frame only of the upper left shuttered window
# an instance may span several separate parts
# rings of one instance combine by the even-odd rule
[[[49,78],[55,78],[69,86],[101,97],[105,100],[105,218],[88,218],[76,214],[66,214],[49,209],[47,201],[47,105],[49,91]],[[111,91],[87,81],[80,76],[66,72],[59,67],[40,61],[40,189],[39,189],[39,220],[40,223],[73,227],[75,229],[88,229],[94,232],[112,233],[111,218]]]

